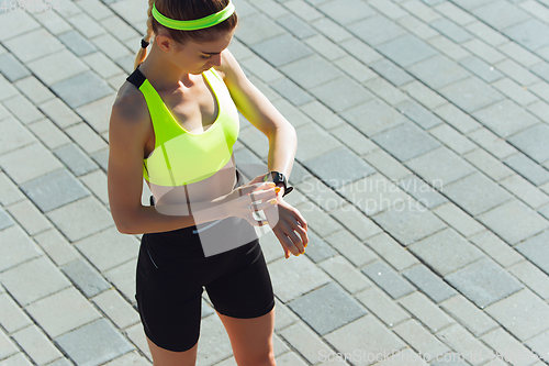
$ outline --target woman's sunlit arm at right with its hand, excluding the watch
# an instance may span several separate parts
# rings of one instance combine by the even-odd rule
[[[298,149],[298,135],[295,129],[290,122],[272,106],[259,89],[257,89],[246,77],[240,66],[231,54],[225,49],[222,54],[222,65],[215,67],[222,75],[225,85],[231,92],[236,108],[254,126],[261,131],[269,140],[268,169],[276,170],[289,177]],[[309,243],[306,235],[307,224],[302,214],[293,207],[283,201],[282,190],[279,192],[277,200],[278,206],[278,222],[272,231],[279,237],[279,241],[288,247],[288,252],[294,255],[304,253],[304,247]],[[264,210],[267,213],[267,210]],[[267,217],[269,220],[269,218]],[[302,240],[295,235],[300,233]],[[287,242],[289,236],[293,243]]]

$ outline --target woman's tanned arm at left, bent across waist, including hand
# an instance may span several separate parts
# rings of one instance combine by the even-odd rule
[[[228,199],[227,195],[212,201],[192,202],[192,215],[167,215],[155,207],[143,206],[143,157],[148,129],[150,117],[143,95],[137,89],[126,90],[112,107],[107,174],[111,214],[121,233],[143,234],[188,228],[240,215],[243,208],[251,203],[250,198],[235,199],[237,196],[232,195]],[[242,192],[246,195],[257,188],[246,187]],[[257,193],[257,200],[270,196],[274,197],[273,189]]]

